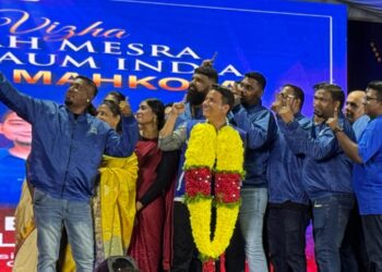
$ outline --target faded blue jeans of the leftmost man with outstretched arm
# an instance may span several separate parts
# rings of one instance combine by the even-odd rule
[[[37,226],[38,272],[56,272],[62,227],[68,233],[76,271],[94,270],[94,234],[89,202],[51,198],[35,188],[34,212]]]

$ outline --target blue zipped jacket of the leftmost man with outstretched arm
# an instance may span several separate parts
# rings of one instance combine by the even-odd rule
[[[1,74],[0,100],[32,124],[27,180],[55,198],[88,201],[103,154],[128,157],[139,138],[133,116],[122,118],[120,136],[95,116],[19,92]]]

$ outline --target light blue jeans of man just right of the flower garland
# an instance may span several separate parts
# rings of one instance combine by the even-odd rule
[[[239,213],[241,233],[250,272],[266,272],[263,247],[263,221],[267,203],[266,188],[242,188]]]

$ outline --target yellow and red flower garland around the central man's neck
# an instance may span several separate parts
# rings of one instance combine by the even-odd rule
[[[200,123],[191,131],[184,156],[186,203],[192,236],[203,261],[203,271],[215,271],[214,260],[228,247],[239,213],[242,140],[229,125],[216,133],[213,125]],[[213,175],[215,197],[211,195]],[[216,227],[211,235],[213,203],[216,206]]]

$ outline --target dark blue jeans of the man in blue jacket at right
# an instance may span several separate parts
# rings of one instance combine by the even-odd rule
[[[320,272],[341,272],[339,247],[354,205],[355,197],[350,194],[314,199],[314,251]]]

